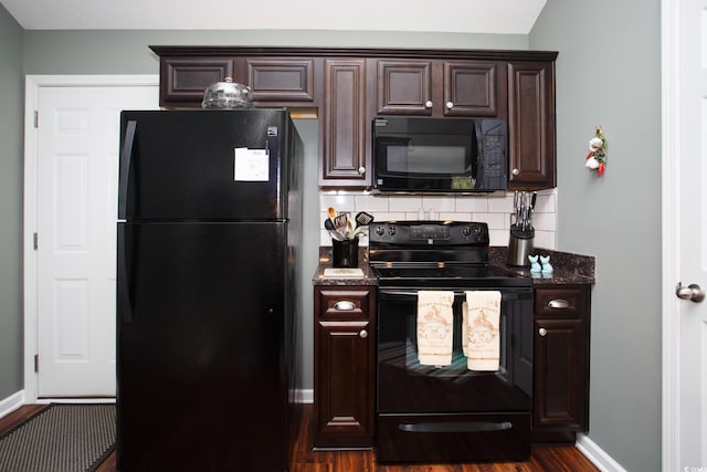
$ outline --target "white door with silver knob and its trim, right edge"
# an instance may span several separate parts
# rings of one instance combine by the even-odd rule
[[[707,470],[707,0],[666,0],[663,21],[663,470]]]

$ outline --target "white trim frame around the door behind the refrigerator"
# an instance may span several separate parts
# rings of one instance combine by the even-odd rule
[[[27,75],[24,83],[24,214],[23,214],[23,300],[24,300],[24,390],[23,402],[50,402],[57,399],[38,399],[39,376],[34,371],[34,355],[38,353],[36,310],[36,251],[34,232],[38,228],[38,128],[34,113],[39,109],[39,93],[42,87],[91,87],[91,86],[158,86],[158,74],[144,75]],[[59,400],[72,401],[72,400]],[[78,401],[78,400],[76,400]],[[91,399],[81,398],[81,402]],[[106,399],[97,401],[106,402]]]

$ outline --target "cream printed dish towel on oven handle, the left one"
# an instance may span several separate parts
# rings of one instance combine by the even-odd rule
[[[452,364],[454,292],[418,292],[418,357],[423,366]]]

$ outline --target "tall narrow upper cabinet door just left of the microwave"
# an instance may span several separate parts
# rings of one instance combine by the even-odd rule
[[[366,60],[327,59],[319,133],[319,186],[363,187],[369,182],[366,126]]]

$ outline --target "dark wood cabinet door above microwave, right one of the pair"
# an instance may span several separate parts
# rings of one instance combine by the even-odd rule
[[[444,63],[444,115],[497,116],[495,62]]]

